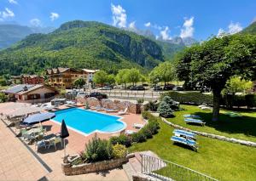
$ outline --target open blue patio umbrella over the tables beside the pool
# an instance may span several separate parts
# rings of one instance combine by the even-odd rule
[[[48,121],[53,117],[55,117],[55,113],[51,113],[51,112],[38,113],[32,116],[26,117],[23,123],[26,123],[26,124],[35,124],[38,122],[41,123],[41,122]]]

